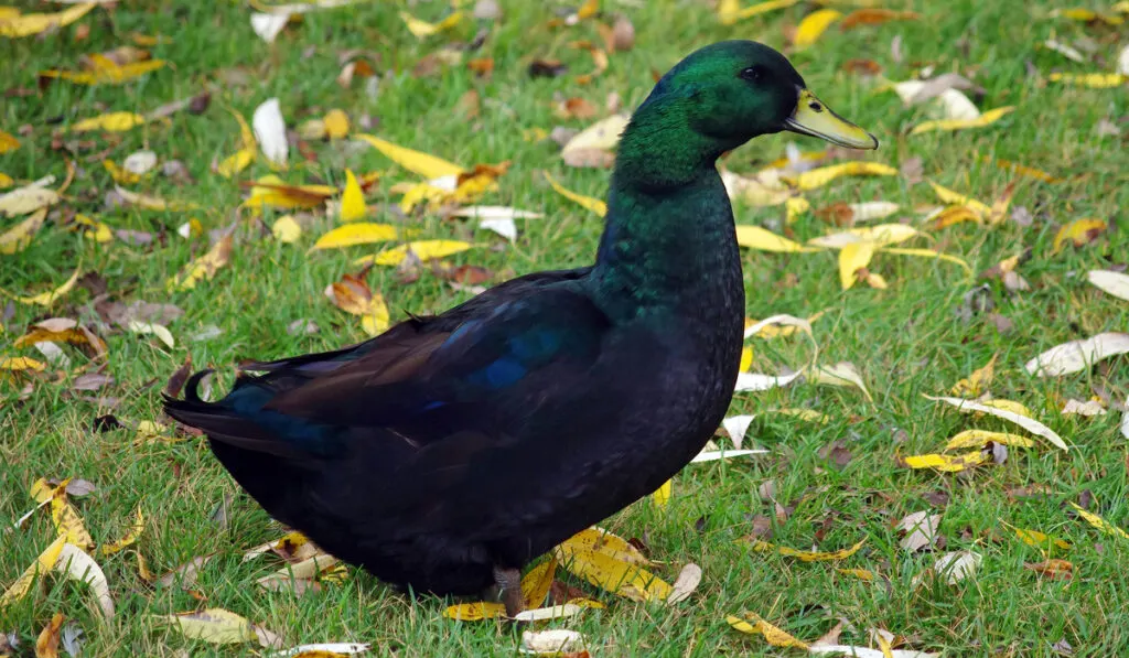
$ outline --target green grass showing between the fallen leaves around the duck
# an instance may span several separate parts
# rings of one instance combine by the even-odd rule
[[[85,656],[170,656],[182,649],[201,656],[245,652],[245,647],[216,649],[185,640],[155,629],[146,618],[203,605],[262,623],[280,633],[287,646],[364,641],[371,642],[375,655],[380,656],[516,651],[517,634],[509,628],[445,620],[445,602],[405,598],[355,569],[344,584],[317,595],[296,598],[260,590],[254,580],[278,564],[268,560],[243,563],[242,552],[280,530],[238,492],[202,441],[138,447],[129,431],[91,430],[94,418],[111,411],[128,421],[156,419],[158,393],[186,357],[196,366],[211,363],[230,372],[242,359],[326,350],[364,337],[359,323],[334,308],[322,290],[352,271],[350,261],[369,251],[307,253],[315,237],[333,223],[324,217],[307,227],[297,245],[278,243],[260,225],[242,221],[231,262],[215,280],[193,291],[166,292],[165,279],[208,248],[207,239],[183,239],[175,228],[187,217],[199,218],[209,230],[237,221],[240,188],[210,172],[213,160],[238,148],[238,128],[222,104],[250,117],[256,105],[278,96],[291,126],[340,107],[353,121],[370,116],[377,128],[369,132],[464,166],[513,160],[499,191],[484,202],[546,214],[519,221],[516,244],[507,245],[489,234],[472,233],[471,225],[426,213],[405,220],[422,237],[490,244],[491,248],[473,249],[449,261],[487,266],[499,273],[500,281],[508,275],[585,264],[595,251],[599,220],[553,193],[539,172],[549,170],[568,187],[595,196],[603,195],[607,173],[569,169],[560,163],[552,142],[522,138],[522,129],[585,125],[554,117],[558,96],[583,96],[603,106],[614,91],[630,109],[649,91],[653,70],[665,71],[693,49],[723,38],[755,38],[781,47],[786,26],[795,26],[814,8],[797,6],[724,27],[711,3],[701,0],[607,2],[607,15],[622,12],[633,21],[637,45],[614,54],[606,73],[581,87],[572,74],[588,71],[590,61],[585,52],[567,44],[576,38],[598,41],[590,23],[553,30],[545,27],[551,15],[548,7],[502,5],[505,19],[493,25],[482,23],[489,36],[481,51],[467,55],[495,58],[495,73],[489,79],[474,77],[465,67],[413,77],[415,62],[449,40],[439,36],[419,42],[397,18],[402,7],[393,3],[308,14],[300,25],[288,27],[273,46],[253,35],[251,9],[240,3],[129,0],[115,11],[96,9],[80,20],[90,27],[89,37],[80,43],[72,38],[76,26],[43,38],[3,42],[2,59],[11,63],[0,79],[5,88],[34,89],[36,71],[73,68],[84,53],[128,43],[131,32],[164,35],[165,43],[154,46],[152,54],[170,63],[122,86],[90,88],[55,82],[41,94],[6,98],[0,103],[0,128],[16,133],[28,125],[32,131],[20,137],[21,148],[0,155],[0,172],[17,181],[64,176],[65,153],[51,149],[51,133],[69,122],[108,111],[148,112],[204,88],[213,90],[204,115],[180,113],[168,126],[155,124],[112,138],[98,133],[76,138],[94,143],[79,152],[79,172],[61,208],[97,217],[113,228],[159,234],[151,246],[122,242],[96,245],[49,221],[26,251],[0,256],[0,287],[8,291],[26,295],[46,290],[81,263],[85,272],[97,272],[105,279],[110,299],[172,302],[184,310],[183,317],[169,325],[177,345],[168,350],[151,336],[100,326],[86,289],[76,289],[51,309],[12,307],[14,315],[3,321],[7,331],[0,334],[3,354],[38,356],[34,350],[11,346],[34,322],[52,316],[79,318],[91,324],[110,345],[106,371],[116,381],[95,395],[120,398],[120,405],[110,410],[81,400],[67,381],[54,377],[35,379],[26,396],[19,393],[26,380],[0,381],[0,521],[10,526],[10,520],[30,508],[27,489],[36,477],[85,477],[96,483],[98,491],[75,502],[99,543],[119,537],[132,510],[141,506],[148,521],[138,546],[154,571],[166,572],[196,555],[215,555],[195,585],[207,603],[177,587],[149,588],[138,577],[130,552],[99,556],[119,606],[114,620],[100,620],[84,588],[50,579],[45,594],[0,611],[0,632],[18,633],[24,643],[20,655],[30,655],[35,635],[54,612],[64,613],[82,628]],[[1129,187],[1124,185],[1129,163],[1120,138],[1101,137],[1095,131],[1102,119],[1119,123],[1127,112],[1127,96],[1123,88],[1049,85],[1029,77],[1025,65],[1030,61],[1043,76],[1056,69],[1099,70],[1097,64],[1074,64],[1039,49],[1036,44],[1052,33],[1059,40],[1091,37],[1106,62],[1115,60],[1120,44],[1115,32],[1048,18],[1050,3],[1006,6],[982,7],[969,0],[916,2],[912,8],[922,14],[919,21],[850,32],[832,27],[814,47],[794,53],[791,59],[821,98],[879,137],[882,150],[874,159],[896,167],[921,158],[928,178],[986,202],[1016,182],[1014,205],[1034,214],[1031,226],[1008,221],[988,229],[965,223],[934,235],[937,245],[965,258],[975,272],[1024,248],[1032,249],[1032,258],[1019,270],[1032,290],[1012,293],[998,281],[989,282],[995,313],[1013,321],[1014,330],[999,333],[987,314],[966,323],[959,319],[955,310],[962,296],[978,282],[946,263],[879,255],[872,269],[886,278],[890,288],[857,286],[843,292],[833,253],[744,253],[747,315],[807,316],[828,309],[815,323],[821,361],[856,363],[874,402],[854,389],[806,383],[738,394],[734,413],[806,407],[830,415],[831,421],[820,425],[791,416],[759,418],[746,440],[770,448],[770,455],[690,466],[675,479],[674,498],[665,510],[644,500],[607,519],[605,527],[645,539],[651,556],[665,563],[658,572],[667,580],[673,580],[688,561],[702,565],[704,580],[691,599],[673,608],[594,591],[593,596],[607,604],[606,609],[557,624],[585,632],[594,655],[777,655],[780,650],[762,638],[729,629],[726,614],[741,611],[756,612],[808,641],[841,616],[858,629],[857,633],[844,633],[844,641],[865,644],[865,629],[881,626],[911,638],[913,648],[946,656],[1050,656],[1054,655],[1051,646],[1064,639],[1076,655],[1126,652],[1129,617],[1123,612],[1123,565],[1129,560],[1129,543],[1100,535],[1064,510],[1068,501],[1077,501],[1088,491],[1095,501],[1091,509],[1115,525],[1129,525],[1127,447],[1117,429],[1120,414],[1077,419],[1060,416],[1057,410],[1067,397],[1088,398],[1097,385],[1126,400],[1127,360],[1119,358],[1089,374],[1050,379],[1030,377],[1022,367],[1060,342],[1129,327],[1129,305],[1085,281],[1086,271],[1123,265],[1129,254],[1122,210],[1129,204]],[[412,10],[436,20],[447,11],[440,2],[420,3]],[[450,36],[469,41],[473,34],[474,27],[464,23]],[[890,54],[891,40],[898,35],[905,53],[903,63]],[[358,47],[379,56],[382,79],[375,98],[365,94],[361,82],[343,90],[334,81],[340,70],[338,53]],[[526,68],[535,56],[564,60],[571,65],[570,74],[531,79]],[[979,103],[982,109],[1003,105],[1017,109],[981,130],[905,137],[909,126],[925,117],[924,111],[904,108],[894,94],[875,93],[873,81],[842,72],[842,64],[856,58],[878,61],[891,80],[909,79],[922,65],[934,65],[938,72],[961,72],[984,88]],[[225,82],[230,76],[220,76],[220,71],[236,70],[245,73],[244,81]],[[476,89],[483,99],[481,116],[473,121],[455,111],[469,89]],[[755,170],[780,157],[788,141],[804,149],[820,147],[795,135],[758,139],[732,153],[727,166]],[[193,183],[177,185],[158,175],[135,188],[192,201],[201,210],[105,210],[103,195],[113,183],[97,158],[89,156],[111,146],[108,157],[119,163],[143,147],[161,160],[182,160],[195,178]],[[285,174],[288,181],[340,184],[345,167],[383,170],[380,187],[369,195],[370,203],[395,203],[399,196],[387,190],[396,182],[415,181],[369,148],[352,148],[349,142],[312,147],[316,161]],[[1017,177],[986,165],[982,156],[1048,169],[1067,181],[1049,185]],[[294,151],[291,157],[297,159]],[[269,169],[257,163],[243,178],[266,173]],[[898,217],[909,221],[920,217],[912,211],[914,205],[935,202],[928,185],[913,185],[901,177],[842,178],[806,196],[814,208],[840,201],[894,201],[904,210]],[[780,230],[782,209],[738,204],[736,214],[741,223]],[[1110,230],[1088,246],[1052,254],[1051,240],[1058,228],[1082,217],[1110,220]],[[14,221],[6,220],[3,228]],[[808,213],[789,230],[806,239],[830,227]],[[368,281],[387,299],[393,319],[404,318],[409,310],[439,312],[469,295],[453,290],[427,271],[418,281],[404,284],[391,270],[377,269]],[[321,332],[290,335],[287,326],[299,318],[315,322]],[[207,341],[191,340],[209,325],[222,333]],[[754,370],[799,367],[809,358],[809,345],[803,340],[754,340],[751,344],[756,352]],[[69,349],[68,353],[73,366],[86,362],[77,351]],[[944,394],[994,353],[999,353],[999,361],[992,394],[1026,404],[1075,447],[1061,453],[1040,441],[1034,449],[1013,449],[1003,465],[962,475],[898,467],[895,454],[936,451],[961,429],[1006,429],[991,419],[973,420],[922,397]],[[833,441],[842,441],[852,456],[842,470],[820,456],[821,448]],[[770,541],[797,549],[817,545],[820,550],[837,550],[866,538],[864,549],[841,564],[805,564],[751,553],[747,544],[735,542],[751,532],[752,517],[773,515],[772,503],[758,495],[759,485],[769,479],[777,483],[778,500],[795,506],[787,521],[773,521]],[[286,484],[279,482],[279,486]],[[1043,485],[1050,493],[1009,499],[1009,489],[1024,485]],[[926,497],[935,492],[947,494],[947,505],[930,503]],[[220,527],[211,514],[228,494],[234,494],[228,524]],[[930,567],[935,555],[907,554],[899,547],[893,526],[918,510],[944,512],[940,532],[946,550],[969,549],[983,555],[974,580],[956,586],[912,586],[914,576]],[[1075,578],[1048,580],[1025,570],[1025,562],[1038,562],[1042,555],[1010,536],[1003,521],[1073,542],[1075,549],[1065,558],[1074,563]],[[816,539],[817,530],[821,539]],[[43,512],[26,528],[0,534],[0,582],[10,584],[52,536],[51,519]],[[874,570],[884,582],[863,582],[838,573],[835,565]]]

